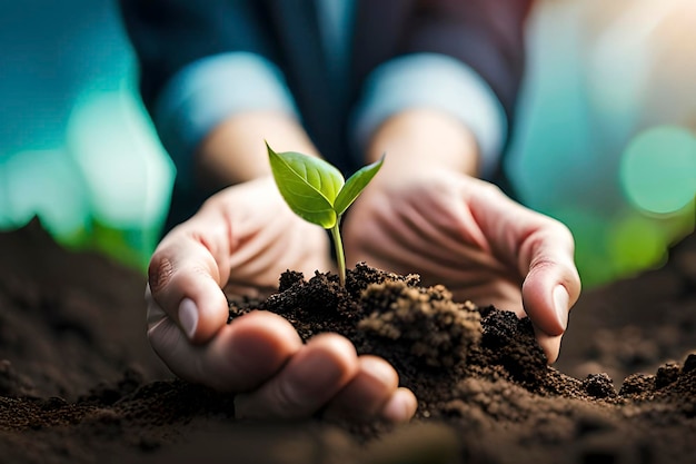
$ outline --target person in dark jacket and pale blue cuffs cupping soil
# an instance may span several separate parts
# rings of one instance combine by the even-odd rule
[[[264,140],[351,174],[387,152],[346,215],[358,260],[528,316],[549,362],[580,283],[559,223],[507,197],[505,151],[530,1],[122,0],[141,95],[177,166],[150,263],[148,336],[238,416],[409,419],[392,366],[280,316],[227,324],[221,290],[332,267],[328,236],[278,192]]]

